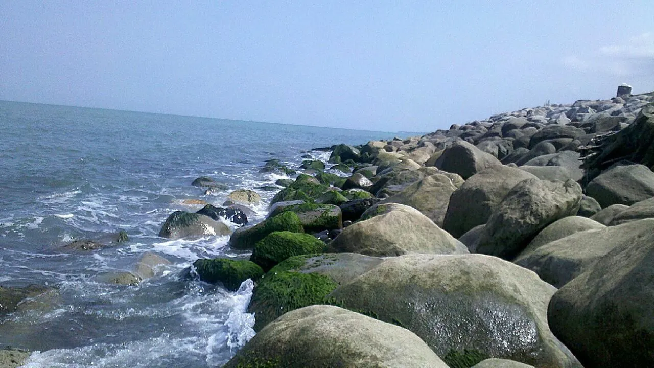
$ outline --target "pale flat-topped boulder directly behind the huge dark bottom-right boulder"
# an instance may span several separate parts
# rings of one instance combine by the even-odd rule
[[[643,223],[591,229],[523,251],[515,264],[532,270],[545,282],[562,287],[601,257],[623,244],[630,232],[642,232]]]

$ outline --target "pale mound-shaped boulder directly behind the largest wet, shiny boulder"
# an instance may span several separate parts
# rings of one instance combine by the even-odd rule
[[[366,219],[366,213],[376,215]],[[378,204],[366,213],[362,215],[363,221],[343,229],[330,242],[328,251],[377,257],[406,253],[468,253],[463,244],[415,208],[395,203]]]

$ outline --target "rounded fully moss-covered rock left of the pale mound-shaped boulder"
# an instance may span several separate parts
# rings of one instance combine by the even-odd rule
[[[257,242],[250,261],[260,265],[264,271],[268,271],[289,257],[320,253],[322,248],[324,243],[313,235],[275,231]]]

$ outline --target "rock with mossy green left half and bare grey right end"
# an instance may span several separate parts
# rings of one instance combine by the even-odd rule
[[[259,331],[282,314],[313,304],[326,304],[337,285],[379,265],[381,258],[354,253],[298,255],[279,263],[256,284],[248,312]]]

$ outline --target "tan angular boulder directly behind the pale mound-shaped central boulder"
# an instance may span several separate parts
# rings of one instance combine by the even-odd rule
[[[442,227],[445,212],[447,212],[447,206],[449,205],[449,198],[454,191],[456,191],[456,187],[449,177],[436,174],[409,185],[400,193],[384,200],[384,202],[411,206],[429,217],[436,225]]]

